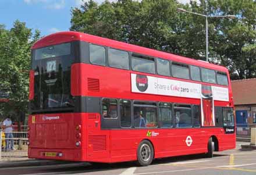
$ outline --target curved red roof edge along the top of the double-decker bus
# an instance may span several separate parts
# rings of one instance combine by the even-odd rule
[[[76,31],[62,31],[54,34],[47,35],[34,43],[32,49],[37,49],[41,47],[47,47],[49,45],[61,44],[62,42],[71,41],[86,41],[93,44],[104,45],[106,47],[111,47],[115,49],[121,49],[125,51],[140,53],[142,55],[169,59],[174,62],[185,63],[188,65],[201,66],[208,69],[219,70],[228,73],[226,67],[214,65],[208,62],[202,62],[200,60],[195,60],[191,58],[186,58],[184,56],[175,55],[173,53],[167,53],[162,51],[157,51],[154,49],[144,48],[133,44],[127,44],[125,42],[110,40],[108,38],[97,37],[95,35],[79,33]]]

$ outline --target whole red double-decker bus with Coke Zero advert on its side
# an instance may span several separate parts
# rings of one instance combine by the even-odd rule
[[[71,31],[31,63],[29,158],[147,166],[235,148],[225,67]]]

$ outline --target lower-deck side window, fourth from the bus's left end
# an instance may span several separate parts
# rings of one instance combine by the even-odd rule
[[[161,102],[158,110],[158,125],[160,127],[172,127],[172,104]]]

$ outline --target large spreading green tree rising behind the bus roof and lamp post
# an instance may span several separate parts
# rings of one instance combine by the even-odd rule
[[[209,18],[209,58],[228,67],[233,79],[256,77],[254,0],[93,0],[72,9],[70,30],[129,42],[194,59],[205,59],[205,17],[179,13],[183,8],[204,15],[236,15],[236,19]]]

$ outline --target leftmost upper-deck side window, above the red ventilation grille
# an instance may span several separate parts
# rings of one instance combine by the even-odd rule
[[[106,65],[106,50],[99,45],[90,44],[90,62],[93,65]]]

